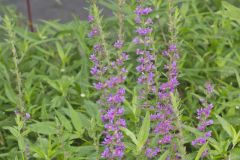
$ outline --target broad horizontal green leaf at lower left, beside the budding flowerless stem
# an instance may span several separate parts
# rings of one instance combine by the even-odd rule
[[[31,124],[28,126],[31,131],[40,133],[40,134],[56,134],[57,129],[54,122],[45,121],[45,122],[37,122],[35,124]]]

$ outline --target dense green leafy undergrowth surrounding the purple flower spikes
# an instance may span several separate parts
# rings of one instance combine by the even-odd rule
[[[116,3],[100,3],[117,10]],[[154,25],[154,34],[160,52],[168,37],[167,7],[165,1],[149,3],[156,4],[158,9],[153,16],[159,19]],[[124,7],[124,50],[130,55],[125,82],[129,95],[125,117],[127,126],[136,129],[134,134],[137,134],[145,113],[136,116],[131,112],[131,107],[137,105],[133,4],[132,0]],[[214,124],[209,127],[213,131],[212,138],[204,146],[209,148],[205,159],[240,159],[239,5],[237,0],[191,0],[176,4],[180,15],[180,120],[184,125],[183,141],[189,160],[197,159],[201,150],[192,147],[191,141],[199,134],[194,128],[195,117],[201,107],[199,99],[205,97],[206,82],[214,85],[214,96],[209,99],[214,105],[211,114]],[[43,21],[35,25],[36,32],[31,33],[14,11],[3,11],[0,21],[0,159],[98,159],[103,151],[103,124],[96,103],[99,93],[92,87],[94,79],[90,75],[93,40],[87,36],[89,24],[77,18],[65,24]],[[110,33],[117,32],[118,21],[113,17],[103,20],[104,30],[108,31],[107,41],[114,42],[116,35]],[[13,53],[21,75],[22,97]],[[30,119],[25,113],[30,114]],[[125,159],[130,160],[134,158],[134,145],[127,137]]]

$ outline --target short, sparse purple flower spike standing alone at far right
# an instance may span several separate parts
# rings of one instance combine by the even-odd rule
[[[211,97],[213,94],[213,86],[211,83],[206,83],[205,87],[207,97]],[[212,136],[212,131],[207,131],[207,127],[213,124],[213,120],[209,119],[213,104],[209,104],[205,99],[201,99],[200,101],[204,107],[197,110],[197,120],[199,121],[197,129],[202,133],[202,136],[192,141],[193,146],[202,146],[206,144],[207,140]],[[208,149],[202,153],[202,157],[206,157],[207,155]]]

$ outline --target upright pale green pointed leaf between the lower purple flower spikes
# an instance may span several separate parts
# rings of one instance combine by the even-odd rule
[[[143,145],[146,143],[146,141],[148,139],[149,131],[150,131],[150,114],[149,114],[149,112],[147,112],[146,116],[143,120],[143,124],[141,126],[140,131],[139,131],[139,134],[137,136],[138,151],[140,151],[142,149]]]

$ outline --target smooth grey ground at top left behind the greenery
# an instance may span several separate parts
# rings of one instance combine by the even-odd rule
[[[61,21],[71,20],[73,15],[80,19],[86,19],[88,11],[88,0],[31,0],[33,20],[60,19]],[[0,0],[1,5],[14,5],[19,12],[27,15],[26,0]],[[104,9],[104,14],[109,15],[110,11]]]

